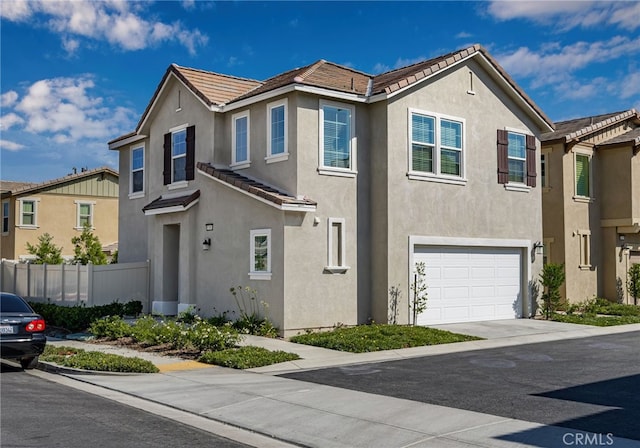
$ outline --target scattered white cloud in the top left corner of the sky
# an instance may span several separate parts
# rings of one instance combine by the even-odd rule
[[[4,0],[2,6],[0,14],[4,19],[42,21],[44,26],[61,35],[63,47],[69,53],[77,50],[78,38],[105,40],[128,51],[162,42],[177,42],[191,54],[209,40],[200,30],[187,29],[179,22],[167,24],[146,20],[142,16],[145,2]]]

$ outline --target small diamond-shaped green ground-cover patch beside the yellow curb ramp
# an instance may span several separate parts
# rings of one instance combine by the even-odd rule
[[[280,362],[300,359],[295,353],[281,350],[271,351],[262,347],[245,346],[230,348],[219,352],[206,352],[199,361],[233,369],[252,369]]]

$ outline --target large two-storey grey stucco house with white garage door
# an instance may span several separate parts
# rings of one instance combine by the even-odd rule
[[[284,335],[387,322],[392,287],[406,323],[418,261],[418,324],[528,316],[552,129],[479,45],[376,76],[171,65],[109,142],[119,260],[151,261],[155,312],[234,311],[229,288],[250,286]]]

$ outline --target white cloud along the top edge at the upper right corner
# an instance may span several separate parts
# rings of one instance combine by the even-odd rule
[[[634,1],[493,0],[487,10],[498,20],[528,19],[561,31],[599,25],[631,31],[640,27],[640,3]]]

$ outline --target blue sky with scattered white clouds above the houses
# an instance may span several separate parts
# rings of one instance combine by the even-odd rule
[[[318,59],[378,74],[478,43],[554,121],[640,109],[637,1],[0,3],[0,177],[117,169],[171,63],[265,80]]]

